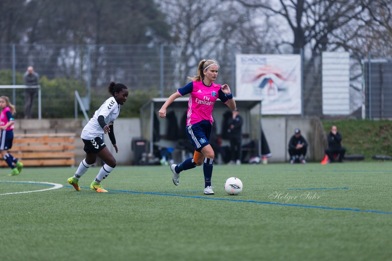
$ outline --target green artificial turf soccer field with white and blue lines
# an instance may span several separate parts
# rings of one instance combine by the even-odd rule
[[[215,165],[207,196],[202,167],[175,186],[169,167],[119,166],[106,194],[89,188],[99,167],[79,192],[67,183],[76,168],[4,168],[0,260],[390,260],[391,169]],[[231,176],[238,196],[223,189]]]

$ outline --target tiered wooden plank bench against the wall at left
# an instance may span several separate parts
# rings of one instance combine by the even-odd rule
[[[15,134],[9,150],[24,166],[74,166],[75,133]],[[4,160],[0,166],[7,166]]]

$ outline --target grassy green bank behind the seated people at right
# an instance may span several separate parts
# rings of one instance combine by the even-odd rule
[[[346,154],[362,154],[366,161],[371,161],[373,155],[392,156],[392,121],[323,120],[322,123],[327,135],[333,125],[338,127]]]

